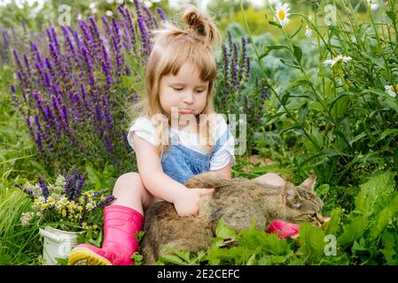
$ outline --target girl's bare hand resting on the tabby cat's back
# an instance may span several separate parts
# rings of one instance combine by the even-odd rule
[[[211,195],[215,191],[214,188],[187,188],[176,196],[174,207],[179,216],[198,216],[199,199],[201,195]]]

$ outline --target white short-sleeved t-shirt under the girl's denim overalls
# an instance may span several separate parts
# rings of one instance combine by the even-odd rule
[[[224,119],[220,119],[220,121],[216,124],[213,129],[213,138],[214,141],[217,142],[222,134],[228,129],[227,123]],[[134,148],[133,141],[133,132],[144,139],[146,142],[152,143],[154,146],[158,146],[159,142],[156,135],[156,130],[154,126],[152,126],[151,120],[146,117],[138,118],[132,126],[129,128],[129,134],[127,139],[129,141],[129,145],[132,149]],[[177,130],[175,128],[169,129],[170,137],[173,135],[177,135],[178,141],[183,144],[183,146],[198,151],[202,154],[207,154],[208,152],[203,148],[202,145],[199,144],[198,134],[196,133],[188,133],[184,131]],[[235,138],[232,134],[230,134],[230,138],[223,142],[220,149],[218,149],[213,157],[210,158],[210,170],[218,170],[222,169],[228,164],[236,163],[235,155],[234,155],[234,145]]]

